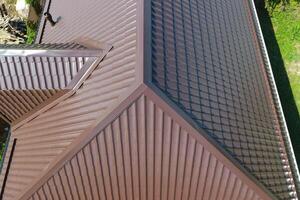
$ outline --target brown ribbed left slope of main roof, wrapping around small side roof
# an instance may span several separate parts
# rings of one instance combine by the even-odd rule
[[[104,118],[130,94],[139,51],[137,4],[134,0],[52,0],[50,12],[62,20],[47,27],[43,42],[68,42],[85,36],[114,48],[76,94],[12,132],[18,144],[5,199],[14,200],[75,138],[93,126],[95,119]]]

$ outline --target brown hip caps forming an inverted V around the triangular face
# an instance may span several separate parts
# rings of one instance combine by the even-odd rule
[[[221,162],[224,167],[230,170],[230,174],[233,173],[236,178],[234,178],[235,181],[242,181],[241,184],[243,187],[251,188],[251,190],[254,192],[254,194],[243,194],[242,188],[238,189],[239,192],[237,195],[245,196],[248,195],[248,197],[254,196],[260,197],[261,199],[276,199],[271,194],[264,191],[257,183],[253,180],[251,180],[243,171],[241,171],[239,168],[235,166],[234,163],[232,163],[231,160],[227,158],[223,154],[223,152],[219,151],[217,148],[215,148],[214,145],[211,144],[211,141],[207,140],[205,137],[203,137],[204,134],[199,134],[199,131],[191,126],[190,122],[186,121],[182,116],[181,113],[174,110],[172,106],[169,105],[169,103],[166,103],[166,99],[161,98],[160,95],[157,95],[156,92],[152,91],[152,88],[149,88],[148,86],[141,84],[129,97],[127,97],[123,102],[119,104],[117,108],[115,108],[104,120],[98,121],[96,120],[94,122],[94,125],[91,126],[90,129],[86,130],[82,135],[80,135],[76,141],[74,141],[60,156],[58,156],[54,162],[51,163],[51,165],[48,167],[47,170],[43,172],[39,177],[36,178],[36,181],[29,185],[22,194],[20,194],[16,199],[18,200],[27,200],[31,198],[34,193],[36,193],[47,181],[55,174],[59,172],[64,165],[69,162],[71,159],[74,158],[78,154],[78,152],[83,151],[83,148],[86,147],[87,144],[89,144],[93,138],[95,138],[97,135],[101,134],[102,130],[107,127],[109,124],[111,124],[113,121],[115,121],[120,114],[128,109],[134,102],[136,102],[141,96],[145,96],[145,98],[151,100],[154,102],[154,107],[158,107],[158,109],[162,109],[163,113],[166,113],[166,115],[170,116],[172,120],[176,121],[184,129],[188,134],[191,134],[190,137],[195,138],[197,142],[201,146],[203,146],[208,152],[209,155],[212,155],[216,158],[217,162]],[[146,114],[148,116],[148,114]],[[154,117],[154,116],[153,116]],[[153,119],[156,120],[156,119]],[[159,119],[158,119],[159,120]],[[153,130],[152,130],[153,131]],[[171,136],[172,138],[172,136]],[[139,145],[139,144],[133,144],[133,145]],[[91,155],[92,156],[92,155]],[[199,155],[198,155],[199,156]],[[205,156],[203,156],[205,157]],[[182,158],[183,159],[183,158]],[[199,158],[200,159],[200,158]],[[205,158],[203,158],[205,159]],[[207,158],[210,159],[210,158]],[[209,161],[208,161],[209,162]],[[102,163],[103,164],[103,163]],[[169,163],[170,164],[170,163]],[[136,167],[134,167],[132,170],[134,170]],[[163,169],[161,169],[163,170]],[[221,170],[221,171],[220,171]],[[222,173],[222,169],[214,171],[215,173]],[[177,172],[176,172],[177,173]],[[199,172],[200,173],[200,172]],[[208,172],[206,172],[205,177],[208,177]],[[213,177],[209,176],[206,178],[209,181],[213,181]],[[120,177],[121,178],[121,177]],[[125,179],[125,177],[122,177]],[[191,178],[191,177],[190,177]],[[206,180],[205,179],[205,180]],[[202,180],[202,179],[201,179]],[[202,180],[204,181],[204,180]],[[220,180],[221,181],[221,180]],[[227,184],[225,184],[227,185]],[[115,187],[118,187],[118,185],[115,185]],[[213,185],[208,186],[208,189],[211,189]],[[224,186],[223,186],[224,187]],[[225,190],[223,187],[220,187],[219,190]],[[227,186],[226,186],[227,187]],[[123,188],[124,189],[124,188]],[[235,190],[236,188],[233,188]],[[248,190],[248,189],[247,189]],[[218,192],[214,191],[214,192]],[[208,192],[208,191],[207,191]],[[232,193],[236,193],[232,192]],[[133,194],[132,194],[133,195]],[[205,194],[203,194],[205,195]],[[233,195],[233,194],[231,194]]]

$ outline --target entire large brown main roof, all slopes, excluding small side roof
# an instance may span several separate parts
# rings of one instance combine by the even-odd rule
[[[6,199],[298,199],[297,164],[252,0],[46,5],[61,21],[52,27],[42,19],[37,41],[84,36],[114,48],[76,92],[13,124]],[[52,59],[55,69],[63,65]],[[59,87],[61,73],[48,71],[56,80],[50,89]]]

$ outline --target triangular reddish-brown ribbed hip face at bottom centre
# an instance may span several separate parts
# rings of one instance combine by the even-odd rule
[[[151,98],[105,126],[29,199],[270,199]]]

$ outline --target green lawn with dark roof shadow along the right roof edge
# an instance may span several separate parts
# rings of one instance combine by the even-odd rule
[[[268,6],[266,6],[268,7]],[[258,8],[281,104],[300,166],[300,4]]]

